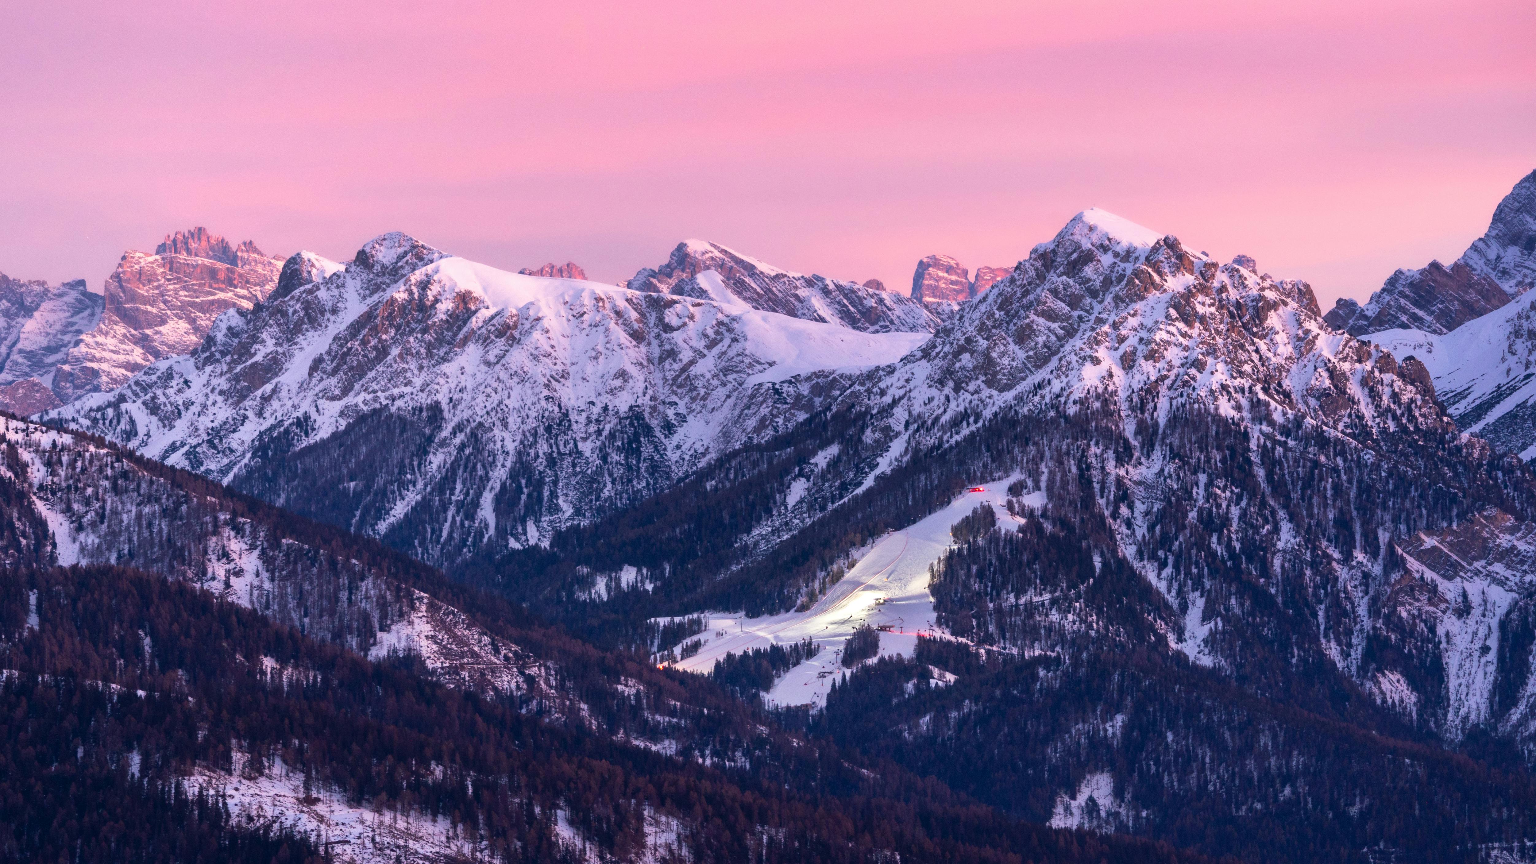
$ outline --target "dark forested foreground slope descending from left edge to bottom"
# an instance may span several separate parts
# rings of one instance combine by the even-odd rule
[[[6,859],[1197,859],[874,773],[376,542],[11,417],[0,557]]]

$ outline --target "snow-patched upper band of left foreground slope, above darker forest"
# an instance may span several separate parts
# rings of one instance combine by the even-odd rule
[[[80,436],[0,417],[0,442],[18,457],[0,479],[25,490],[58,565],[131,562],[369,657],[409,651],[453,686],[548,695],[527,652],[378,568],[338,560]]]

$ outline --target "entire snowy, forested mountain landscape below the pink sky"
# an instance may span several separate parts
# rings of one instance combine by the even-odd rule
[[[0,856],[1536,861],[1536,172],[1195,249],[0,279]]]

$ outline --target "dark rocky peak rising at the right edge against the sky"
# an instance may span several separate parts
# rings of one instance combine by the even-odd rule
[[[1448,333],[1536,284],[1536,172],[1493,210],[1488,230],[1450,267],[1398,270],[1366,305],[1341,298],[1326,321],[1355,336],[1382,330]]]

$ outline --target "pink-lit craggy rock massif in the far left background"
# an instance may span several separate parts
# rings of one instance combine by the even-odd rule
[[[250,308],[276,285],[283,261],[207,229],[167,235],[154,255],[126,252],[103,289],[100,324],[69,350],[52,388],[71,402],[121,387],[149,364],[195,348],[214,319]]]

